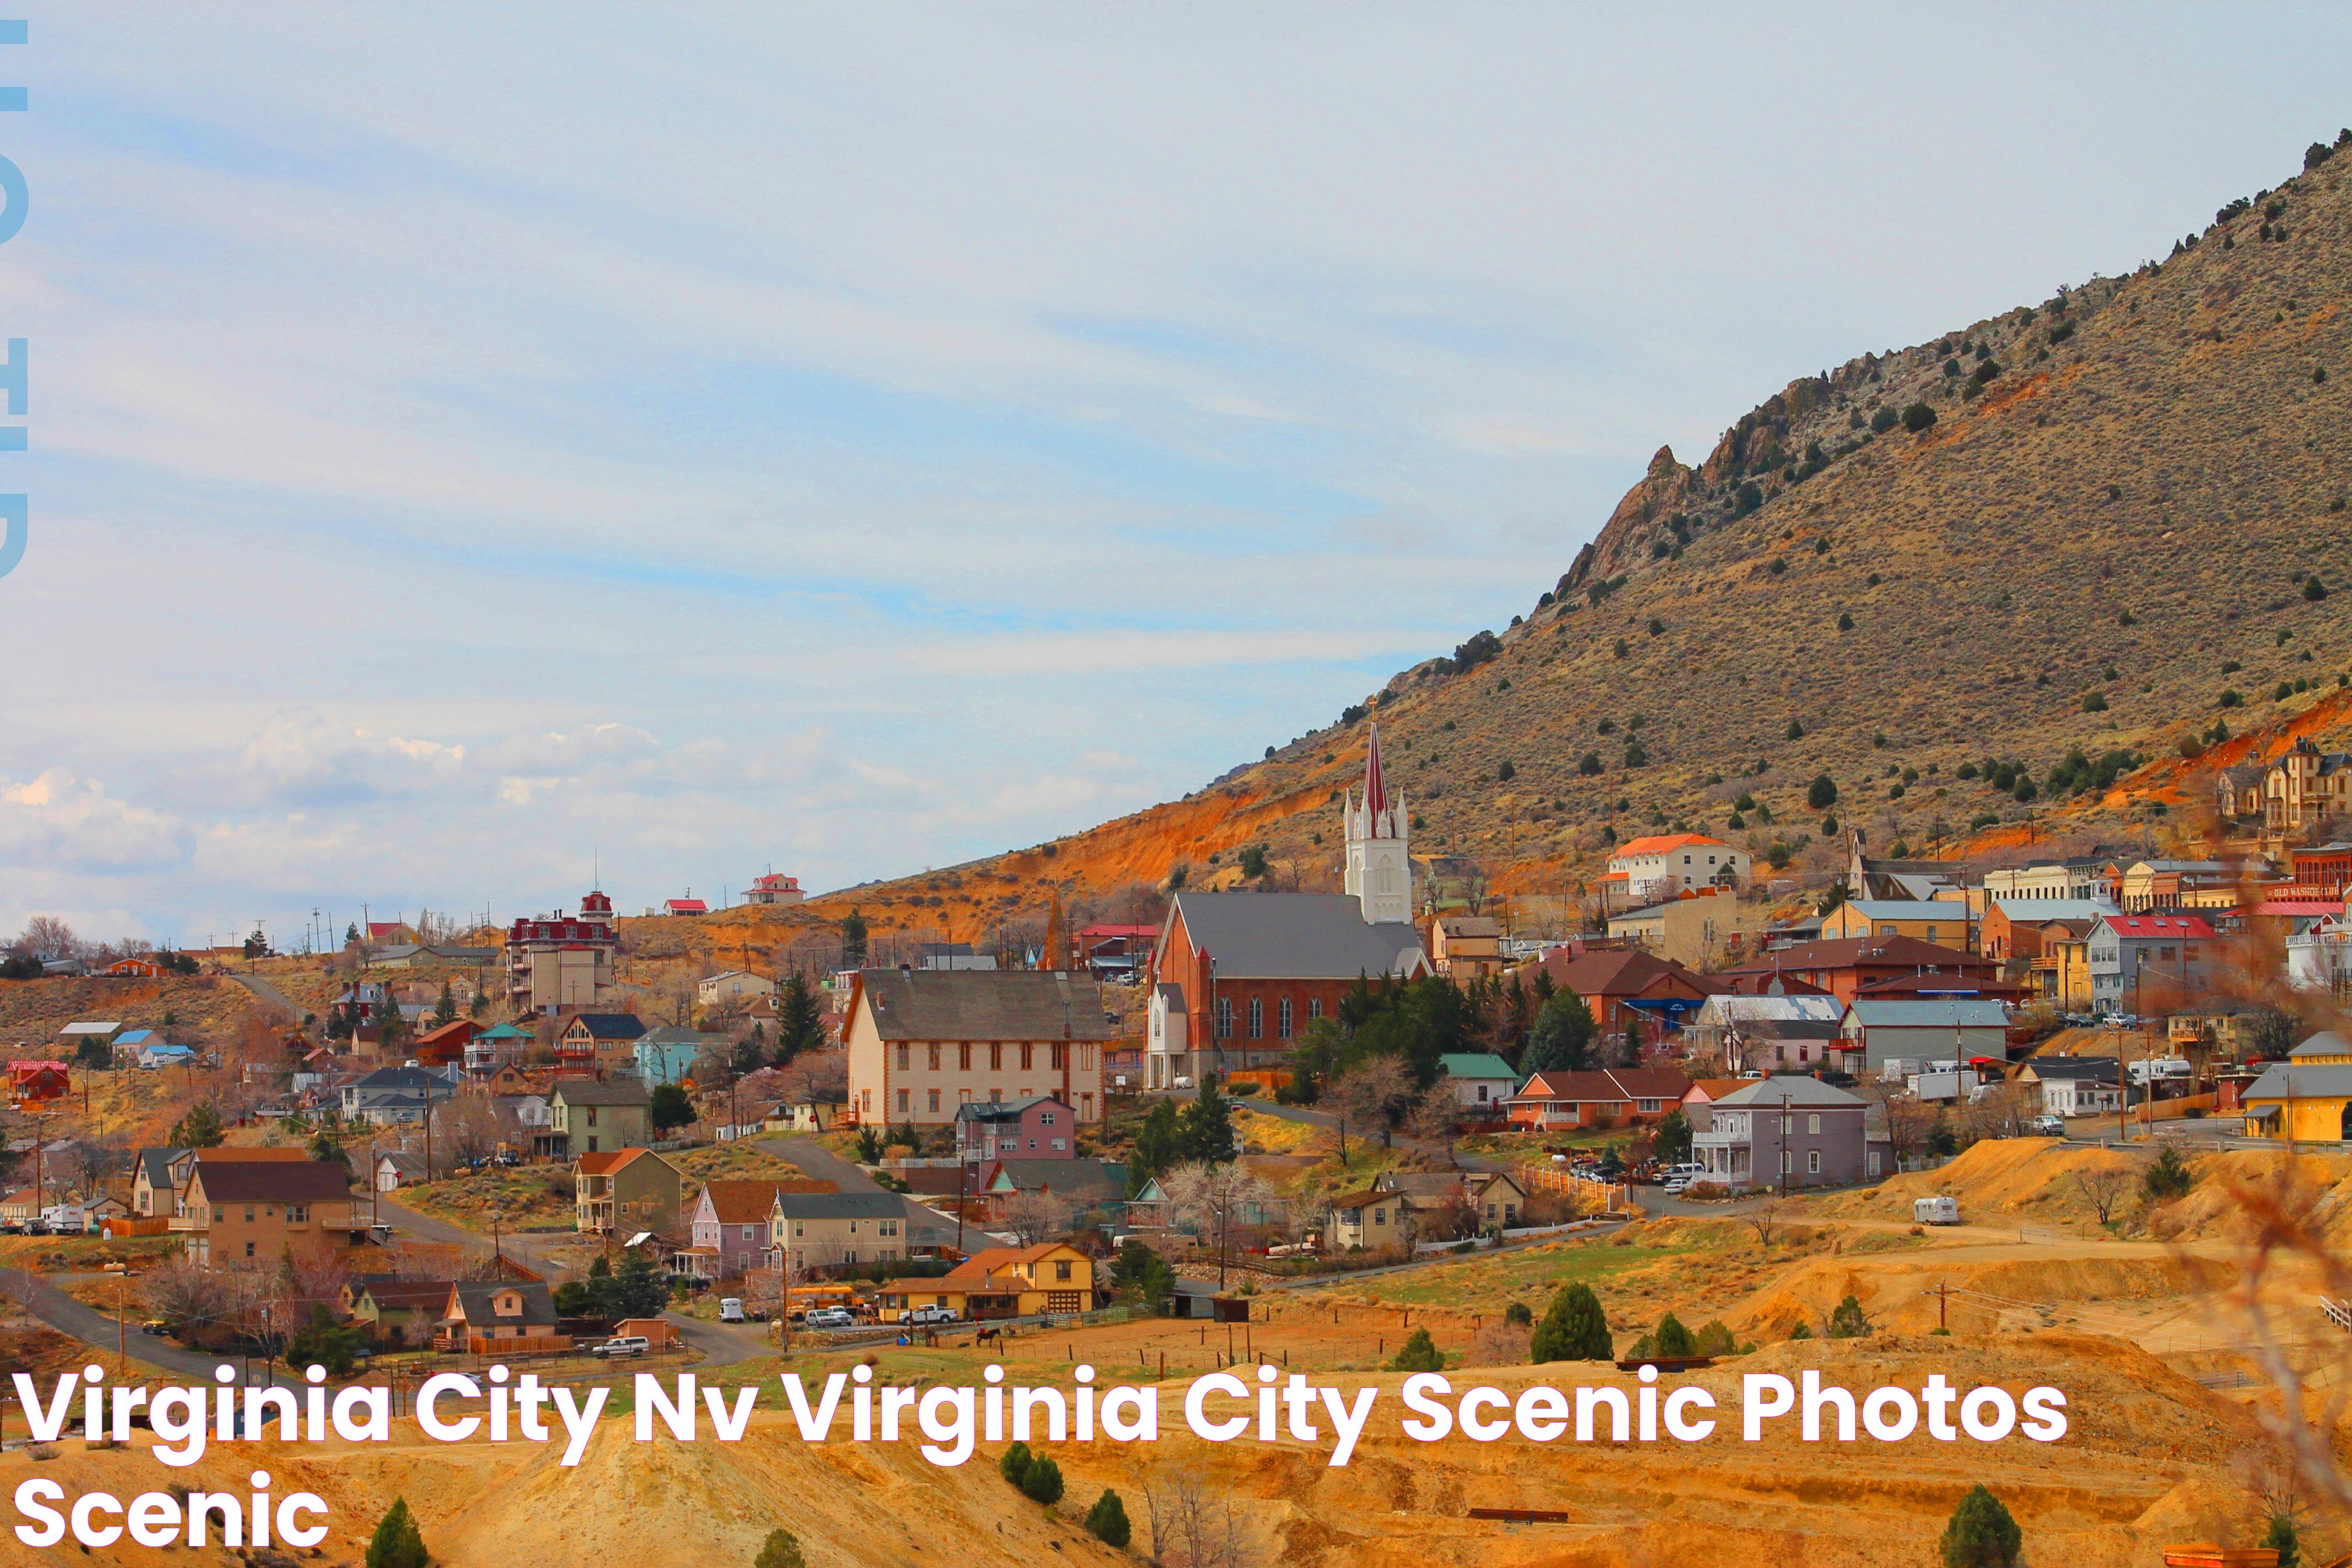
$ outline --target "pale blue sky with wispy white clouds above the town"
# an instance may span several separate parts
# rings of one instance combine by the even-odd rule
[[[2328,7],[485,9],[0,49],[0,931],[1181,795],[1526,609],[1656,447],[2352,122]]]

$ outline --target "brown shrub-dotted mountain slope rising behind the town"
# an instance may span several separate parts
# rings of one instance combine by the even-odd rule
[[[1505,889],[1573,891],[1609,842],[1661,823],[1759,853],[1818,837],[1804,799],[1823,773],[1837,818],[1877,846],[1950,851],[1978,827],[2138,839],[2201,797],[2183,736],[2216,719],[2336,729],[2352,672],[2340,148],[2232,202],[2161,266],[1792,381],[1696,468],[1661,449],[1538,604],[1378,693],[1416,853],[1477,858]],[[1933,425],[1900,423],[1915,404]],[[2307,597],[2307,574],[2326,597]],[[2279,682],[2310,691],[2274,703]],[[1334,799],[1367,722],[1350,708],[1051,853],[856,889],[809,914],[858,903],[976,936],[1042,910],[1047,886],[1098,893],[1176,863],[1230,879],[1256,842],[1277,875],[1329,884]],[[2063,783],[2074,748],[2161,762],[2056,802],[2051,771]],[[1987,757],[2025,764],[2039,797],[1955,776]],[[1743,792],[1769,823],[1748,811],[1726,827]]]

